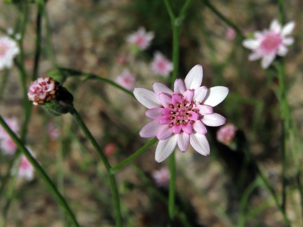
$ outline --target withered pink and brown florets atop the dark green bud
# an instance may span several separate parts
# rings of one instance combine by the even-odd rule
[[[33,81],[28,89],[28,99],[33,101],[34,105],[42,104],[54,99],[58,90],[58,82],[52,77],[39,77]]]

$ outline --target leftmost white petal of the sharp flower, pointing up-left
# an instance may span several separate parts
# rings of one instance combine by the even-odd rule
[[[136,99],[148,109],[161,107],[162,104],[155,92],[146,88],[137,87],[133,91]]]

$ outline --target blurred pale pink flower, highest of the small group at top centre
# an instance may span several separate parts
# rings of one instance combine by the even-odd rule
[[[144,27],[138,29],[138,31],[134,32],[133,34],[129,35],[126,38],[131,44],[135,44],[141,50],[145,50],[151,43],[151,40],[155,37],[154,32],[149,31],[146,32]]]

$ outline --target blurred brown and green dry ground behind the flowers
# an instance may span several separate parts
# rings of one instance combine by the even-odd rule
[[[175,12],[183,1],[175,1]],[[215,1],[215,6],[234,21],[244,32],[267,28],[278,18],[276,1]],[[168,14],[163,1],[128,0],[49,0],[46,4],[53,46],[47,41],[45,18],[42,28],[42,56],[39,76],[54,69],[51,50],[59,66],[97,74],[114,79],[128,67],[136,74],[135,87],[151,89],[154,81],[165,78],[152,74],[149,63],[153,52],[160,50],[171,59],[172,38]],[[285,57],[288,101],[299,133],[303,133],[303,2],[285,1],[286,21],[294,20],[295,44]],[[17,17],[13,5],[0,2],[0,25],[13,27]],[[34,64],[36,7],[30,7],[29,23],[24,48],[26,70],[31,74]],[[144,26],[155,32],[155,39],[144,54],[135,54],[125,37]],[[179,77],[184,78],[195,64],[203,66],[203,85],[223,85],[230,88],[226,100],[215,107],[234,123],[248,141],[251,153],[269,179],[278,195],[281,194],[281,124],[279,104],[275,97],[277,82],[274,75],[266,74],[259,61],[247,60],[250,51],[241,41],[225,39],[227,25],[206,8],[201,1],[193,1],[181,26]],[[119,65],[119,54],[128,57],[127,65]],[[2,72],[0,72],[2,73]],[[109,158],[115,164],[125,159],[148,140],[138,135],[148,122],[145,107],[122,92],[98,81],[83,81],[70,77],[65,86],[75,98],[75,108],[83,116],[88,128],[101,147],[108,142],[118,150]],[[0,103],[4,117],[17,117],[21,123],[22,90],[18,71],[9,74],[5,95]],[[51,141],[46,133],[48,122],[60,127],[60,137]],[[254,181],[255,173],[248,165],[242,171],[243,153],[229,150],[214,139],[215,130],[209,129],[211,154],[199,155],[192,148],[186,153],[176,150],[177,204],[193,223],[192,226],[236,226],[241,211],[240,200],[245,189]],[[241,134],[240,133],[240,134]],[[240,135],[241,136],[241,135]],[[243,139],[243,138],[242,138]],[[79,143],[79,141],[81,143]],[[51,117],[40,107],[34,107],[26,144],[38,161],[58,183],[82,226],[114,226],[111,191],[102,162],[68,114]],[[288,144],[287,144],[288,145]],[[289,148],[289,146],[288,146]],[[61,156],[62,154],[62,156]],[[166,226],[167,207],[142,179],[140,173],[151,179],[151,173],[168,161],[156,163],[155,146],[128,164],[116,174],[121,194],[125,226]],[[295,184],[295,168],[291,152],[287,150],[287,214],[292,226],[303,226],[299,193]],[[7,169],[8,156],[1,155],[0,176]],[[63,164],[60,166],[60,162]],[[62,184],[62,176],[64,181]],[[239,183],[243,180],[243,184]],[[1,180],[1,178],[0,178]],[[248,198],[245,213],[251,214],[245,226],[282,227],[281,213],[268,191],[257,181],[257,187]],[[167,196],[164,189],[160,191]],[[3,209],[6,199],[0,199]],[[14,199],[8,210],[7,227],[61,227],[69,226],[58,203],[44,182],[36,175],[31,182],[18,181]],[[184,226],[177,222],[176,226]]]

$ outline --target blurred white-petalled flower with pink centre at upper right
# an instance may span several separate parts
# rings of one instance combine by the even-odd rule
[[[249,55],[248,60],[254,61],[262,58],[262,68],[268,68],[274,61],[276,55],[285,56],[288,52],[287,46],[294,43],[294,38],[288,36],[294,27],[294,21],[282,27],[278,20],[275,19],[271,21],[269,30],[255,31],[254,39],[246,39],[243,41],[243,46],[253,51],[253,53]]]

